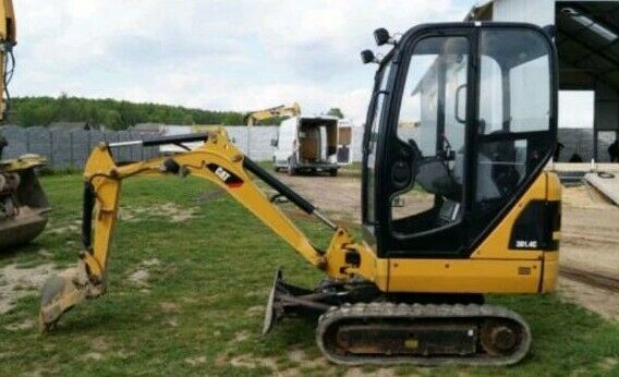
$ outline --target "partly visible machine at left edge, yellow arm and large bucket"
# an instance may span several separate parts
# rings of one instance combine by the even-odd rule
[[[7,119],[9,109],[8,85],[13,75],[15,60],[13,47],[15,16],[12,0],[0,2],[0,122]],[[45,158],[25,155],[17,159],[2,160],[8,142],[0,135],[0,251],[26,243],[36,238],[47,224],[49,204],[35,169],[46,165]]]

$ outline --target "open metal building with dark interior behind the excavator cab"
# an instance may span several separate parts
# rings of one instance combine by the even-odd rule
[[[481,1],[466,20],[555,25],[560,89],[593,90],[592,157],[608,160],[619,136],[619,1]]]

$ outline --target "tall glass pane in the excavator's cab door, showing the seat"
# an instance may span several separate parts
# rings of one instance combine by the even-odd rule
[[[398,138],[413,153],[411,184],[391,198],[396,235],[432,231],[460,220],[469,40],[420,40],[409,63]]]

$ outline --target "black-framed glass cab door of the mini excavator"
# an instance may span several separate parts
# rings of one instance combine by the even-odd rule
[[[474,37],[471,27],[429,28],[402,47],[376,187],[381,256],[462,248]]]

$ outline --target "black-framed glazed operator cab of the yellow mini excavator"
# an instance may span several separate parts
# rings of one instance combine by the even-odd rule
[[[556,72],[551,37],[532,25],[401,38],[379,64],[363,144],[364,238],[379,258],[470,257],[553,155]],[[551,231],[514,242],[551,247]]]

